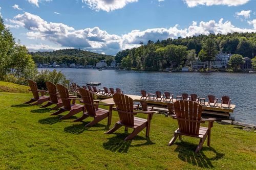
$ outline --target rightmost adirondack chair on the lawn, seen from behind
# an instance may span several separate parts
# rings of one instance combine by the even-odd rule
[[[215,118],[201,118],[202,106],[193,101],[177,101],[174,103],[174,109],[176,115],[173,115],[174,119],[178,120],[179,128],[174,132],[172,140],[168,145],[172,145],[177,137],[181,139],[181,135],[200,138],[199,145],[196,149],[196,153],[203,147],[204,141],[208,136],[207,145],[210,146],[210,133],[211,128],[214,125]],[[209,122],[208,128],[201,127],[201,123]]]

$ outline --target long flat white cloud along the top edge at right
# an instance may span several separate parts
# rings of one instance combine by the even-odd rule
[[[227,6],[239,6],[246,4],[250,0],[184,0],[188,7],[196,7],[198,5],[227,5]]]

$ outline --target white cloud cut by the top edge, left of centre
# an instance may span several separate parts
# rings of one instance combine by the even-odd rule
[[[138,2],[138,0],[82,0],[93,10],[111,12],[123,8],[126,4]]]

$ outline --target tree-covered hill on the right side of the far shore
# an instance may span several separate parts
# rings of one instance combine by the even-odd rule
[[[191,63],[196,57],[202,61],[212,61],[215,55],[223,53],[239,54],[253,58],[256,54],[256,33],[228,33],[199,35],[177,38],[147,44],[140,42],[137,48],[120,51],[115,60],[121,67],[137,70],[163,70]]]

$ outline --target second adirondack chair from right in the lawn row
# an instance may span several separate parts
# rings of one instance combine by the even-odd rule
[[[133,139],[144,128],[146,128],[146,137],[148,137],[150,135],[150,123],[154,111],[133,111],[133,99],[121,93],[115,93],[113,99],[116,105],[116,109],[114,110],[118,112],[120,120],[106,134],[113,133],[121,126],[124,126],[125,131],[128,128],[134,129],[124,140]],[[134,115],[137,113],[147,114],[147,119],[135,117]]]

